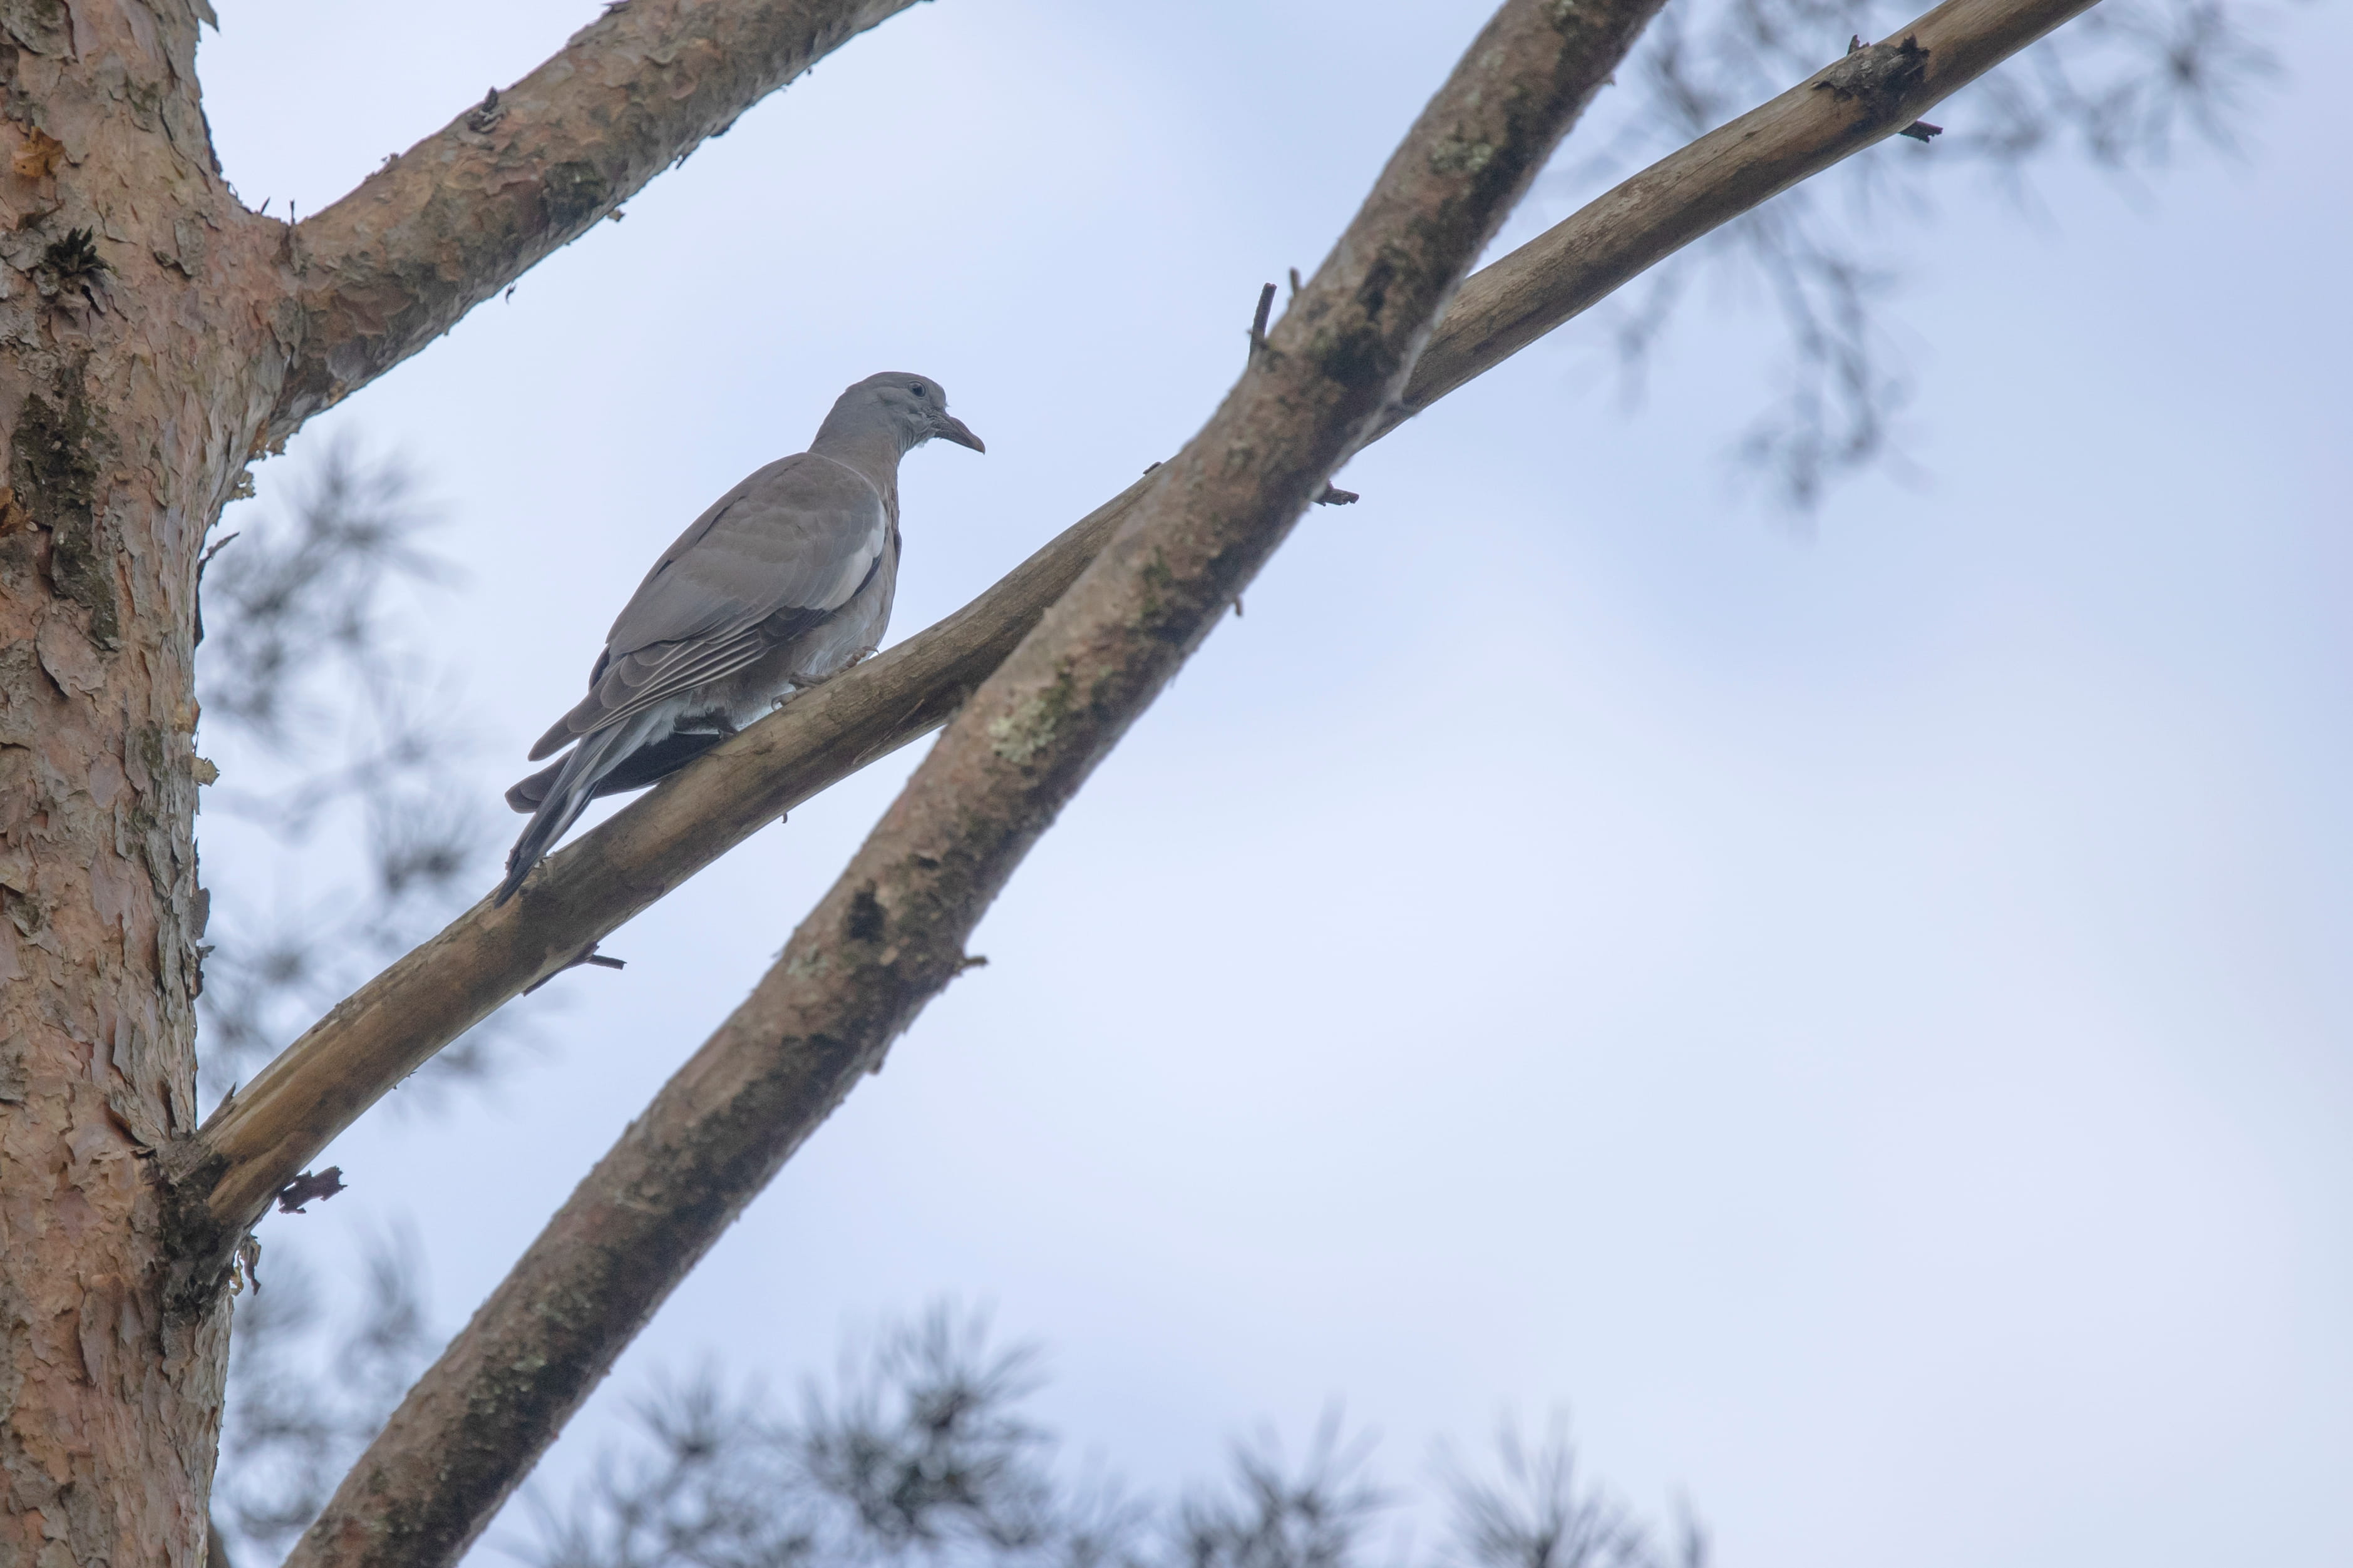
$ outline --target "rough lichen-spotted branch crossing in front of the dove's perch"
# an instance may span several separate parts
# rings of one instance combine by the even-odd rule
[[[1209,425],[960,708],[776,966],[409,1392],[289,1568],[452,1563],[791,1150],[878,1070],[1094,764],[1402,390],[1659,0],[1508,0]]]

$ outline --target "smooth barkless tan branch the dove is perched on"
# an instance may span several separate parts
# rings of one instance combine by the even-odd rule
[[[1817,87],[1840,61],[1635,174],[1461,287],[1405,388],[1405,409],[1428,407],[1680,244],[1894,134],[2082,9],[2089,0],[1953,0],[1897,35],[1918,40],[1927,68],[1892,101]],[[184,1152],[191,1262],[226,1258],[278,1187],[504,1001],[795,802],[939,726],[1078,581],[1146,489],[1139,480],[955,616],[727,741],[555,853],[515,900],[482,900],[327,1013]]]

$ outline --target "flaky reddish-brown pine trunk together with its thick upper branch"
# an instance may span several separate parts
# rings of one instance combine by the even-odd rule
[[[207,0],[0,0],[0,1568],[205,1559],[228,1281],[160,1175],[205,531],[264,444],[892,9],[638,0],[296,233],[221,181]]]

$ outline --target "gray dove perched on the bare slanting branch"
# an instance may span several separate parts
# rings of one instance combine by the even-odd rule
[[[934,435],[986,451],[929,376],[868,376],[833,402],[807,451],[753,473],[661,552],[612,623],[588,696],[532,748],[532,762],[572,755],[506,792],[532,823],[496,903],[591,799],[675,773],[882,644],[899,458]]]

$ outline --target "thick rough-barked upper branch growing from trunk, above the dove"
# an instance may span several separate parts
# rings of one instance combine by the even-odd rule
[[[913,0],[631,0],[292,233],[299,341],[264,440],[341,402],[666,165]]]

